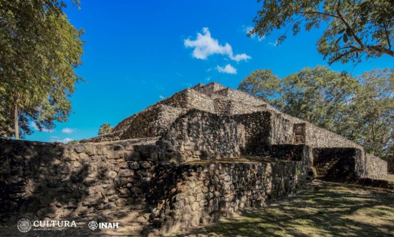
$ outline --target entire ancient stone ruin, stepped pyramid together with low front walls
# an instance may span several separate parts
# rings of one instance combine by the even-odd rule
[[[0,212],[3,221],[67,218],[144,202],[152,225],[171,232],[292,193],[313,166],[334,181],[376,184],[387,174],[356,143],[248,94],[199,84],[81,144],[2,140]]]

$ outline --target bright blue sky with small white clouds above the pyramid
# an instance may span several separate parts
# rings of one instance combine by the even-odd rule
[[[245,36],[261,7],[252,0],[81,0],[80,7],[78,11],[70,5],[65,12],[74,26],[85,30],[83,65],[77,74],[86,83],[76,85],[68,122],[52,131],[35,131],[27,140],[67,142],[96,136],[101,124],[115,126],[200,82],[236,88],[256,69],[269,68],[283,77],[305,67],[328,66],[316,50],[323,29],[290,34],[278,46],[282,30],[264,39]],[[383,56],[357,67],[337,63],[330,69],[358,75],[393,63]]]

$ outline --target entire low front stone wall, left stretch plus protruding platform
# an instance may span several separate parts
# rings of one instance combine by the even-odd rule
[[[77,145],[0,140],[0,222],[78,217],[146,199],[154,225],[194,226],[304,184],[303,145],[273,148],[282,161],[177,164],[166,161],[157,139]]]

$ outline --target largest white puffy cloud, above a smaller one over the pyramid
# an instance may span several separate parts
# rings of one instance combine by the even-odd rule
[[[208,27],[203,28],[203,34],[197,33],[197,38],[195,40],[187,38],[183,43],[185,47],[194,48],[192,53],[193,57],[201,60],[206,60],[208,56],[213,54],[227,55],[231,60],[236,62],[242,60],[246,61],[252,58],[245,53],[234,55],[231,45],[228,43],[224,45],[219,44],[217,39],[211,37],[211,32],[209,32]]]

